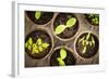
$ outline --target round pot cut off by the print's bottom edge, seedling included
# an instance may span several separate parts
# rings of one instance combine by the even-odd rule
[[[75,65],[76,58],[69,48],[56,48],[50,56],[50,66],[70,66]]]

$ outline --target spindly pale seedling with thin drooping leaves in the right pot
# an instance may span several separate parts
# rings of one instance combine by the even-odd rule
[[[90,38],[92,40],[89,40],[89,38]],[[87,52],[87,47],[88,47],[88,45],[89,45],[90,48],[95,47],[95,40],[94,40],[94,37],[90,36],[90,32],[88,32],[88,34],[86,35],[86,37],[84,36],[83,38],[81,38],[81,39],[78,40],[78,43],[82,43],[82,45],[83,45],[83,51],[82,51],[82,53],[86,53],[86,52]]]

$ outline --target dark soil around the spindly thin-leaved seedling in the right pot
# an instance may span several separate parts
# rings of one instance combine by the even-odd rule
[[[78,37],[78,39],[83,38],[83,37],[86,36],[86,35],[87,35],[87,32],[81,35],[81,36]],[[76,41],[76,43],[75,43],[75,49],[76,49],[78,55],[81,55],[82,57],[85,57],[85,58],[89,58],[89,57],[94,56],[94,55],[98,52],[98,49],[99,49],[99,41],[98,41],[98,38],[97,38],[96,36],[94,36],[93,34],[90,34],[90,36],[94,37],[95,47],[88,45],[88,47],[87,47],[86,53],[82,53],[83,45],[82,45],[82,43],[78,43],[78,39],[77,39],[77,41]],[[88,40],[92,40],[92,39],[89,38]]]

